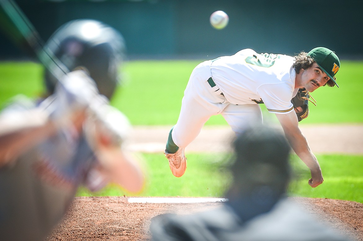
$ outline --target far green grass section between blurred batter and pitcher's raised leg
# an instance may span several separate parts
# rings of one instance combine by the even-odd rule
[[[134,125],[171,125],[179,116],[189,75],[199,61],[132,61],[112,100]]]

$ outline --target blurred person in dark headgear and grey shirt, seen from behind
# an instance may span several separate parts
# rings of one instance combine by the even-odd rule
[[[151,219],[153,241],[348,241],[286,192],[291,148],[280,130],[245,126],[233,142],[233,181],[217,207]],[[309,207],[308,207],[309,208]]]

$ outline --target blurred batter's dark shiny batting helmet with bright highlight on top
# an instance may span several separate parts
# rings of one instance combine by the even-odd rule
[[[70,71],[86,68],[99,93],[109,99],[112,97],[126,50],[125,41],[117,30],[96,20],[73,20],[58,28],[45,47]],[[45,85],[50,93],[56,83],[56,77],[46,70]]]

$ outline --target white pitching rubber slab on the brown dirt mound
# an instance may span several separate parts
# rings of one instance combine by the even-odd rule
[[[225,198],[128,198],[129,203],[207,203],[227,201]]]

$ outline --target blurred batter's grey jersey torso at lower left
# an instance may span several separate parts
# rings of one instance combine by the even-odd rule
[[[21,107],[17,103],[4,112]],[[0,167],[1,240],[43,240],[68,210],[94,161],[85,138],[65,129]]]

